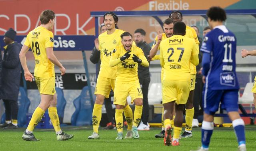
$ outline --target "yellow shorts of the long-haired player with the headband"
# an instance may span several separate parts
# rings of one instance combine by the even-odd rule
[[[108,98],[111,88],[113,89],[113,91],[115,89],[115,83],[116,79],[98,77],[94,94],[101,94]]]

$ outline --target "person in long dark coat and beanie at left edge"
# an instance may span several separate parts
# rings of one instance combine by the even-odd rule
[[[21,65],[19,53],[22,45],[14,42],[16,31],[10,28],[4,34],[4,59],[2,61],[1,98],[4,101],[6,121],[0,127],[16,129],[18,126],[18,94],[20,87]]]

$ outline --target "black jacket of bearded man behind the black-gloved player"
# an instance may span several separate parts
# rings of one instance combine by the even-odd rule
[[[146,42],[142,42],[142,43],[138,44],[137,47],[142,49],[142,51],[144,52],[145,57],[147,57],[149,55],[151,47]],[[139,77],[139,79],[140,78],[145,78],[145,77],[150,77],[149,67],[144,67],[144,66],[139,64],[138,65],[138,77]]]

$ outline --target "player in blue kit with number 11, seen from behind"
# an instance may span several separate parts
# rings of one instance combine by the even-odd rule
[[[200,51],[202,59],[204,121],[202,123],[202,147],[207,151],[213,132],[214,114],[219,104],[226,109],[232,121],[238,141],[238,150],[246,151],[244,121],[238,113],[239,83],[236,76],[236,37],[223,25],[226,12],[220,7],[211,7],[208,23],[212,28],[206,34]]]

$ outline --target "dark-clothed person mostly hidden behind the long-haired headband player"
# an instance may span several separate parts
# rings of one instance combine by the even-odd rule
[[[100,25],[100,33],[103,33],[107,30],[106,26],[104,24]],[[90,61],[93,64],[96,64],[96,76],[98,77],[98,74],[100,72],[100,51],[99,51],[99,40],[96,38],[94,40],[95,47],[92,49],[92,54],[90,55]],[[113,90],[110,91],[109,98],[105,98],[104,104],[108,116],[108,123],[106,127],[103,129],[113,129],[116,125],[114,124],[114,119],[113,119],[113,111],[112,111],[112,103],[111,103],[111,97],[114,96]]]

